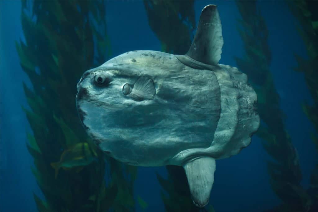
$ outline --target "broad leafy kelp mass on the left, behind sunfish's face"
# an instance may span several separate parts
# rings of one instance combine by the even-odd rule
[[[105,10],[104,1],[22,1],[25,42],[16,49],[33,87],[23,85],[29,105],[24,111],[33,131],[27,134],[32,172],[45,197],[34,194],[41,212],[135,210],[136,168],[104,158],[75,106],[83,72],[110,56]],[[69,161],[55,179],[51,163],[63,161],[63,153],[71,153]]]

